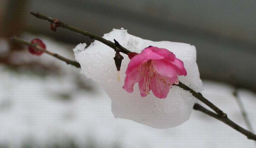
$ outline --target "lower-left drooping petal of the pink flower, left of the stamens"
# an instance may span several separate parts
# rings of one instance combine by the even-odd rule
[[[126,90],[129,93],[133,92],[133,85],[136,82],[139,82],[142,79],[142,75],[140,74],[140,71],[135,71],[130,75],[126,75],[124,79],[124,86],[123,89]]]

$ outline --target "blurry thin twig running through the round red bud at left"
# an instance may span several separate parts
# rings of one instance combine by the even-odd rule
[[[42,51],[42,52],[45,52],[45,53],[47,53],[47,54],[49,54],[49,55],[51,55],[51,56],[54,56],[55,58],[57,58],[57,59],[59,59],[59,60],[61,60],[61,61],[64,61],[64,62],[66,62],[67,64],[76,66],[77,68],[80,68],[80,67],[81,67],[80,64],[79,64],[77,61],[73,61],[73,60],[67,59],[67,58],[65,58],[65,57],[62,57],[62,56],[60,56],[60,55],[58,55],[58,54],[52,53],[52,52],[50,52],[50,51],[48,51],[48,50],[45,50],[44,48],[38,46],[37,44],[31,44],[31,43],[29,43],[29,42],[27,42],[27,41],[25,41],[25,40],[23,40],[23,39],[21,39],[21,38],[18,38],[18,37],[12,37],[12,41],[14,41],[14,42],[16,42],[16,43],[19,43],[19,44],[26,45],[26,46],[34,47],[34,48],[36,48],[36,49],[39,50],[39,51]]]

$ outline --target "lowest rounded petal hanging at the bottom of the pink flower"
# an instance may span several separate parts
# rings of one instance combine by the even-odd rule
[[[154,77],[151,81],[151,89],[157,98],[164,99],[170,91],[170,86],[168,85],[168,82],[164,83],[161,79]]]

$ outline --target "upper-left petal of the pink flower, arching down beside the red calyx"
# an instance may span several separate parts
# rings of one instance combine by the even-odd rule
[[[157,60],[157,59],[164,59],[163,56],[158,55],[157,53],[153,52],[149,48],[145,48],[141,51],[140,54],[134,56],[131,61],[129,62],[127,69],[125,71],[126,75],[133,73],[134,71],[138,70],[138,68],[148,60]]]

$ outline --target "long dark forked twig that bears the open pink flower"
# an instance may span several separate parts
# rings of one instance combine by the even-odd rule
[[[62,28],[65,28],[65,29],[68,29],[70,31],[73,31],[73,32],[76,32],[76,33],[79,33],[81,35],[85,35],[85,36],[88,36],[90,37],[91,39],[95,39],[95,40],[98,40],[100,41],[101,43],[113,48],[115,51],[118,51],[118,52],[122,52],[124,54],[129,54],[131,51],[129,51],[128,49],[122,47],[116,40],[115,43],[109,41],[109,40],[106,40],[98,35],[94,35],[92,33],[89,33],[87,31],[84,31],[84,30],[81,30],[81,29],[78,29],[76,27],[73,27],[73,26],[69,26],[61,21],[59,21],[58,19],[54,19],[54,18],[51,18],[51,17],[47,17],[45,15],[42,15],[41,13],[38,13],[38,12],[30,12],[30,14],[32,14],[33,16],[39,18],[39,19],[44,19],[44,20],[47,20],[48,22],[50,23],[54,23],[57,28],[58,27],[62,27]],[[56,28],[55,28],[56,29]],[[196,97],[198,100],[202,101],[203,103],[205,103],[208,107],[210,107],[211,109],[213,109],[216,113],[210,111],[210,110],[207,110],[206,108],[202,107],[201,105],[199,104],[195,104],[194,105],[194,109],[195,110],[199,110],[201,112],[204,112],[208,115],[210,115],[211,117],[214,117],[224,123],[226,123],[227,125],[231,126],[233,129],[237,130],[238,132],[244,134],[247,136],[248,139],[252,139],[252,140],[255,140],[256,141],[256,135],[254,135],[253,133],[251,133],[250,131],[247,131],[246,129],[243,129],[242,127],[240,127],[239,125],[237,125],[236,123],[234,123],[233,121],[231,121],[230,119],[228,119],[227,117],[227,114],[226,113],[223,113],[223,111],[221,111],[218,107],[216,107],[214,104],[212,104],[210,101],[208,101],[206,98],[204,98],[202,96],[201,93],[198,93],[198,92],[195,92],[193,89],[189,88],[188,86],[186,86],[185,84],[183,83],[179,83],[178,85],[176,85],[180,88],[183,88],[184,90],[188,90],[194,97]]]

